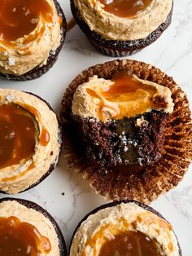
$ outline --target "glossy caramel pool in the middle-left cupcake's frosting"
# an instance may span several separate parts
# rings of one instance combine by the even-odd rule
[[[33,117],[17,104],[0,106],[0,169],[33,157],[37,129]]]

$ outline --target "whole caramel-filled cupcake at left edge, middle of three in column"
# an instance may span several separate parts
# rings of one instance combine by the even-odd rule
[[[0,95],[0,191],[16,194],[55,168],[61,130],[43,99],[11,89],[0,89]]]

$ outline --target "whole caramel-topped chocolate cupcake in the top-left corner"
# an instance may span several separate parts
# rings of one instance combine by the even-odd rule
[[[30,80],[55,64],[66,34],[57,0],[2,0],[0,77]]]

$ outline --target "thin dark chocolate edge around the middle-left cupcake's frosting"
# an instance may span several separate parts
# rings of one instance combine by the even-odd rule
[[[34,94],[31,93],[31,92],[25,91],[25,93],[28,93],[29,95],[33,95],[33,96],[37,97],[38,99],[41,99],[40,96],[34,95]],[[45,104],[50,108],[50,110],[55,113],[55,111],[53,110],[53,108],[50,106],[50,104],[48,104],[48,103],[46,102],[45,99],[41,99],[41,101],[45,102]],[[57,119],[58,119],[58,118],[57,118]],[[60,147],[59,147],[59,155],[60,155],[61,149],[62,149],[62,143],[63,143],[63,129],[62,129],[62,126],[61,126],[61,124],[60,124],[59,119],[58,119],[58,124],[59,124],[58,140],[59,140],[59,145],[60,145]],[[51,173],[53,170],[55,170],[55,166],[57,165],[58,160],[59,160],[59,156],[57,156],[57,157],[55,158],[55,161],[50,164],[49,170],[46,171],[46,174],[44,174],[44,175],[41,177],[41,179],[38,179],[36,183],[33,183],[31,186],[29,186],[28,188],[24,189],[23,191],[20,191],[20,192],[17,193],[17,194],[20,194],[21,192],[25,192],[25,191],[28,191],[28,190],[31,189],[31,188],[36,187],[39,183],[41,183],[44,179],[46,179],[46,177],[48,177],[48,176],[50,175],[50,173]],[[8,195],[7,192],[4,192],[4,191],[1,191],[1,190],[0,190],[0,194],[1,194],[1,193]]]

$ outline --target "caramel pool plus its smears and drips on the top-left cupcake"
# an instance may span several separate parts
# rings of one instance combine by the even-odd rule
[[[40,17],[42,25],[37,29]],[[40,42],[46,29],[46,23],[52,23],[54,19],[62,24],[63,20],[52,10],[46,0],[1,0],[0,52],[6,51],[7,48],[15,48],[18,44],[28,44],[34,40]],[[32,33],[34,29],[36,29],[35,33]],[[25,36],[28,37],[25,38]],[[18,38],[22,39],[21,42],[14,42]],[[22,51],[22,46],[20,50]],[[28,51],[27,55],[30,53]]]

